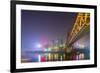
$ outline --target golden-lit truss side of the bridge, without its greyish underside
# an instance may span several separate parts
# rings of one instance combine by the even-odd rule
[[[90,26],[90,13],[78,13],[73,29],[68,36],[68,44],[72,43],[85,27]],[[86,29],[86,28],[85,28]]]

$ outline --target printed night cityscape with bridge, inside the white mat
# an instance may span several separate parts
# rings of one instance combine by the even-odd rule
[[[88,13],[21,10],[21,60],[22,62],[47,62],[84,60],[90,58],[89,24],[79,29],[80,20]],[[81,17],[81,18],[80,18]],[[77,23],[77,28],[75,28]],[[84,30],[85,29],[85,30]],[[82,33],[78,33],[82,31]],[[83,32],[85,31],[85,32]],[[87,33],[88,32],[88,33]],[[73,36],[71,36],[73,35]],[[80,39],[81,36],[81,39]],[[73,39],[74,37],[74,39]],[[72,40],[71,40],[71,39]]]

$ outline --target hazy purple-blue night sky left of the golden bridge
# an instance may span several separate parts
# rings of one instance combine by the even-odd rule
[[[21,10],[21,48],[34,49],[42,40],[65,38],[77,13]]]

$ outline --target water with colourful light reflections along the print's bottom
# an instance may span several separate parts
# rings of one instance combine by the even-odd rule
[[[28,53],[26,62],[49,62],[49,61],[73,61],[90,59],[90,51],[87,48],[76,49],[72,53]],[[25,62],[25,61],[22,61]]]

